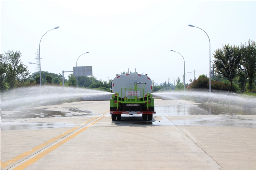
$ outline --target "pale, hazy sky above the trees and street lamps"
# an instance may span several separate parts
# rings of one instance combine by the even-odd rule
[[[73,71],[77,61],[77,66],[92,66],[97,80],[136,69],[160,85],[178,77],[183,82],[185,61],[189,83],[209,76],[210,54],[212,61],[223,45],[255,41],[255,2],[1,0],[1,54],[20,51],[33,73],[36,65],[28,63],[36,63],[40,39],[59,27],[41,40],[42,71]]]

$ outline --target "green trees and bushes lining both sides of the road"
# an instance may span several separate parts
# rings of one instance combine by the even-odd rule
[[[26,65],[24,65],[20,58],[22,53],[19,51],[8,51],[0,54],[0,78],[1,78],[1,92],[11,90],[18,87],[38,86],[40,82],[39,71],[31,73]],[[211,89],[236,92],[240,94],[247,94],[256,97],[256,45],[255,41],[249,40],[248,43],[240,46],[223,45],[222,48],[217,49],[213,53],[214,71],[211,79]],[[128,72],[120,72],[126,74]],[[130,72],[135,73],[135,72]],[[102,91],[110,90],[110,82],[97,80],[95,76],[78,76],[77,82],[80,88],[89,88]],[[195,80],[189,80],[189,84],[185,84],[185,89],[193,90],[207,90],[209,89],[209,76],[199,75]],[[76,77],[73,74],[64,79],[65,86],[76,87]],[[184,90],[184,85],[180,78],[175,80],[174,86],[171,86],[166,81],[156,86],[154,80],[152,81],[152,91],[166,91],[166,90]],[[48,71],[41,71],[41,84],[62,86],[62,74],[51,73]]]

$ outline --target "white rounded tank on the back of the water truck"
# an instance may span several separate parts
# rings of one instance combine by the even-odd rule
[[[137,90],[135,90],[134,82],[145,83],[145,84],[137,84]],[[143,91],[144,87],[144,91]],[[121,93],[122,88],[122,93]],[[137,98],[143,98],[147,95],[147,93],[152,92],[152,81],[147,75],[143,74],[122,74],[118,75],[112,81],[112,91],[113,93],[118,92],[119,97],[122,98],[134,98],[134,96],[129,96],[128,92],[137,91],[139,95]]]

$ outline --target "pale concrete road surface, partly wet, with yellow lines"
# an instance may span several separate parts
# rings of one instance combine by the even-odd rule
[[[152,121],[112,121],[109,101],[1,111],[2,169],[256,169],[255,111],[155,105]]]

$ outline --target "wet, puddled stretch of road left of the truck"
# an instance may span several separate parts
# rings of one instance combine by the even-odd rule
[[[67,112],[48,111],[47,108],[20,109],[19,111],[1,112],[1,130],[34,130],[45,128],[72,127],[76,124],[65,122],[24,122],[34,118],[87,117],[95,115],[93,111],[80,108],[65,108]],[[21,119],[16,122],[17,119]],[[23,120],[24,119],[24,120]],[[22,121],[23,120],[23,121]]]

